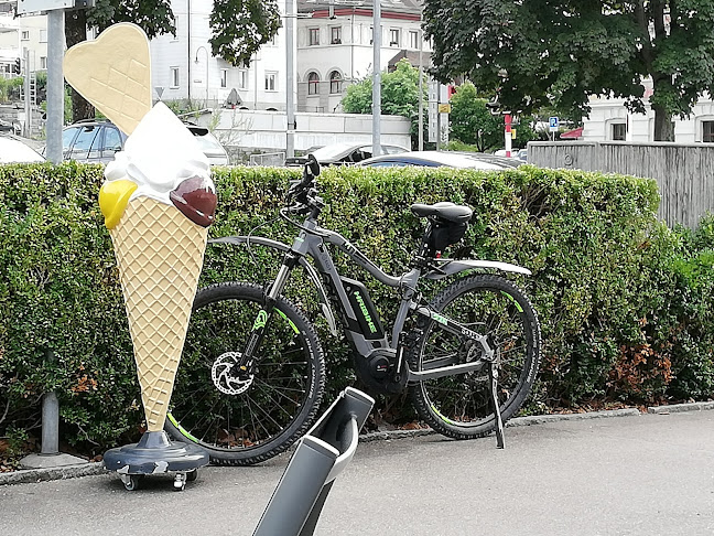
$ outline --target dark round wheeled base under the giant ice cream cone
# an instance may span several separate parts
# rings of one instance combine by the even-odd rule
[[[171,441],[163,430],[144,432],[138,443],[108,450],[104,455],[105,467],[119,473],[129,491],[138,487],[140,476],[169,472],[176,473],[174,487],[183,490],[208,461],[208,453],[201,447]]]

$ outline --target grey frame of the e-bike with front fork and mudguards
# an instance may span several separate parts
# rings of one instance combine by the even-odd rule
[[[343,314],[345,315],[347,323],[347,325],[344,326],[345,334],[353,343],[357,353],[364,358],[369,358],[377,351],[381,351],[382,353],[387,352],[390,355],[396,356],[398,367],[397,369],[401,371],[404,360],[403,347],[400,345],[400,335],[403,332],[404,323],[411,311],[414,311],[416,314],[437,322],[442,329],[448,332],[459,334],[475,341],[483,349],[483,358],[459,365],[453,365],[448,362],[447,358],[445,358],[442,360],[443,363],[430,363],[430,369],[420,372],[411,371],[408,366],[405,366],[404,368],[407,369],[408,382],[421,382],[424,379],[432,379],[447,375],[478,371],[483,368],[487,363],[493,362],[495,358],[494,350],[489,346],[486,336],[472,331],[470,329],[452,319],[439,314],[436,311],[433,311],[426,305],[420,305],[414,300],[416,294],[416,286],[420,278],[422,277],[423,270],[421,268],[414,267],[399,277],[388,275],[339,233],[320,227],[316,223],[316,217],[314,214],[305,218],[302,231],[300,232],[298,237],[295,237],[292,246],[286,246],[282,243],[266,239],[262,237],[229,237],[212,242],[239,244],[250,243],[251,240],[283,250],[285,251],[285,256],[273,283],[266,292],[264,309],[260,311],[258,318],[256,319],[256,322],[253,323],[252,332],[248,339],[246,350],[242,355],[242,364],[246,364],[253,358],[253,352],[259,346],[267,330],[268,322],[272,314],[273,303],[275,299],[282,293],[291,271],[298,266],[298,264],[307,269],[309,275],[315,282],[321,296],[321,301],[323,301],[323,303],[325,304],[325,307],[323,307],[323,311],[326,313],[328,323],[331,323],[332,326],[331,319],[332,321],[334,321],[334,317],[327,313],[327,311],[329,311],[329,305],[326,300],[326,293],[322,288],[320,279],[314,276],[312,266],[304,260],[305,257],[311,257],[313,259],[317,271],[328,280],[331,288],[336,293],[338,305]],[[348,291],[344,285],[343,277],[337,271],[333,261],[332,254],[325,247],[326,244],[340,249],[355,264],[357,264],[357,266],[365,269],[382,285],[402,289],[402,298],[392,325],[391,337],[389,337],[387,333],[383,333],[382,336],[378,337],[368,336],[368,334],[365,333],[365,330],[360,328],[365,324],[374,325],[375,321],[379,322],[379,320],[371,318],[372,312],[369,311],[369,308],[365,303],[364,299],[360,301],[360,299],[358,298],[356,300],[357,303],[350,301]],[[509,265],[507,262],[445,259],[441,264],[442,266],[440,266],[436,270],[431,270],[430,272],[425,274],[424,277],[429,279],[441,279],[452,274],[457,274],[474,268],[495,268],[504,271],[530,274],[530,271],[526,268],[516,265]],[[354,282],[361,286],[359,281]],[[370,303],[367,289],[365,289],[364,287],[361,288],[367,294],[366,301]],[[381,328],[381,324],[379,324],[379,328]],[[375,331],[379,333],[379,330]]]

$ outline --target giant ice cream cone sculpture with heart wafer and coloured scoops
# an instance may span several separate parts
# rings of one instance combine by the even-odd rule
[[[187,460],[190,446],[172,446],[163,426],[216,210],[208,160],[163,103],[151,107],[149,42],[139,26],[117,24],[72,47],[64,67],[75,89],[129,135],[107,165],[99,205],[119,266],[148,432],[107,452],[105,464],[127,474],[185,471],[207,455]]]

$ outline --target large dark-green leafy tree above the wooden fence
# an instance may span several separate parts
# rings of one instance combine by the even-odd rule
[[[651,76],[654,139],[672,140],[672,116],[714,93],[711,1],[425,0],[424,20],[433,74],[500,89],[513,110],[553,104],[578,118],[607,95],[643,112]]]

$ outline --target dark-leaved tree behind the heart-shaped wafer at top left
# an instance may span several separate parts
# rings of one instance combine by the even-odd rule
[[[88,10],[67,11],[65,34],[67,47],[87,39],[87,25],[99,31],[117,22],[139,24],[149,39],[176,34],[171,0],[97,0]],[[210,15],[213,54],[231,65],[247,65],[260,46],[280,28],[275,0],[215,0]],[[94,117],[94,108],[73,89],[73,120]]]

